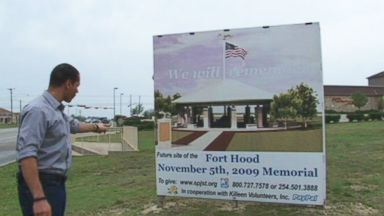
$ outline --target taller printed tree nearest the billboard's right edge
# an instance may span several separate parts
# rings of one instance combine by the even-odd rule
[[[316,106],[319,101],[316,98],[315,91],[304,83],[300,83],[295,88],[288,90],[294,100],[297,115],[301,117],[304,128],[308,126],[308,120],[316,116]]]

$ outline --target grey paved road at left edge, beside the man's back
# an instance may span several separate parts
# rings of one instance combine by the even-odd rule
[[[15,161],[17,128],[0,129],[0,166]]]

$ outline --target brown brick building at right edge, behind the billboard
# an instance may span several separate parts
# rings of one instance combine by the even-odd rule
[[[384,71],[368,79],[368,86],[325,85],[325,110],[337,112],[354,112],[358,110],[352,103],[352,94],[362,93],[368,102],[361,110],[382,110],[384,107]]]

